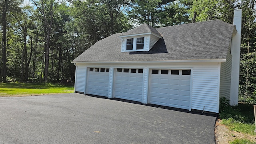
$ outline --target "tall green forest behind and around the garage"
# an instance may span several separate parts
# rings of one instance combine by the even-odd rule
[[[256,0],[0,0],[0,82],[74,82],[72,60],[98,40],[242,11],[240,102],[256,103]],[[7,78],[7,79],[6,79]]]

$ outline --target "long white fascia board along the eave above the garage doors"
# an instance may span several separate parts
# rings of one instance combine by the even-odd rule
[[[71,62],[71,63],[76,63],[76,64],[84,64],[84,63],[90,63],[90,64],[96,64],[96,63],[101,63],[101,64],[126,64],[126,63],[178,63],[178,62],[226,62],[226,59],[215,59],[215,60],[158,60],[158,61],[108,61],[108,62]]]

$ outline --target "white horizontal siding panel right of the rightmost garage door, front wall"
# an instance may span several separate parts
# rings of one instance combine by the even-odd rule
[[[217,64],[193,68],[191,109],[218,113],[218,72]]]

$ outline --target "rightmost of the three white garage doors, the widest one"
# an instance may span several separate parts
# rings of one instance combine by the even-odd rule
[[[150,103],[189,109],[190,70],[151,70]]]

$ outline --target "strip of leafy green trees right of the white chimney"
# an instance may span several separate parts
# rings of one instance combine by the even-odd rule
[[[240,61],[240,101],[256,102],[256,10],[254,0],[241,0],[242,38]]]

